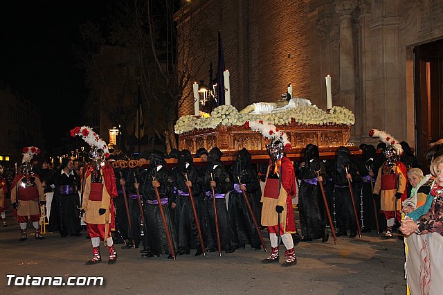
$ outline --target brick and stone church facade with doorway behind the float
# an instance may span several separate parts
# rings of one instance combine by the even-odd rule
[[[443,0],[192,0],[176,21],[204,40],[188,44],[196,81],[211,61],[216,70],[221,30],[237,109],[279,98],[288,82],[326,109],[329,74],[333,104],[356,114],[355,145],[385,129],[422,155],[442,137]],[[191,91],[180,115],[193,112]]]

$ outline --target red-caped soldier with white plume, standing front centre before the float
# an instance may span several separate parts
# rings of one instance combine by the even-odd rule
[[[281,238],[287,249],[284,253],[287,260],[282,263],[282,267],[295,265],[297,256],[291,233],[297,232],[292,209],[292,197],[297,193],[296,175],[293,163],[284,152],[291,148],[291,143],[287,139],[287,134],[262,120],[245,123],[245,127],[260,130],[263,136],[271,138],[271,143],[266,145],[271,165],[267,170],[261,202],[262,225],[268,227],[272,251],[271,256],[262,260],[262,263],[279,261],[278,246]]]

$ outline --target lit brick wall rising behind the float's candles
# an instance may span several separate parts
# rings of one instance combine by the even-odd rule
[[[225,66],[230,71],[231,101],[237,109],[280,98],[288,82],[293,84],[294,96],[311,98],[310,33],[303,1],[201,0],[192,1],[190,9],[199,16],[188,14],[179,21],[179,28],[190,29],[192,19],[192,35],[205,40],[190,46],[195,56],[192,82],[205,80],[208,84],[211,61],[215,78],[220,30]],[[183,95],[187,98],[179,116],[193,113],[192,83]]]

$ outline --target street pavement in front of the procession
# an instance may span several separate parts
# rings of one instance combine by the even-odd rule
[[[298,264],[288,268],[260,263],[269,253],[250,247],[221,257],[217,252],[195,257],[191,251],[173,261],[166,255],[141,258],[140,249],[120,249],[121,244],[116,244],[115,265],[107,265],[109,253],[100,244],[102,262],[87,266],[91,242],[84,232],[68,238],[48,233],[46,240],[35,240],[28,229],[28,240],[18,242],[19,227],[10,211],[8,223],[0,227],[0,294],[406,294],[403,241],[381,240],[374,231],[362,238],[340,237],[338,244],[332,236],[323,244],[301,242],[296,247]],[[262,233],[270,249],[266,231]],[[35,280],[57,276],[64,282],[72,276],[102,276],[104,284],[8,286],[7,274]]]

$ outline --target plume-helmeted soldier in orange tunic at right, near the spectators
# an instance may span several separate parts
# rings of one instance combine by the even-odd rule
[[[381,211],[385,214],[387,223],[386,233],[382,238],[388,239],[392,238],[392,227],[396,220],[400,220],[401,203],[407,197],[408,170],[399,161],[401,145],[392,135],[378,129],[372,129],[369,135],[386,143],[383,150],[386,159],[378,171],[372,193],[374,198],[380,194]]]

